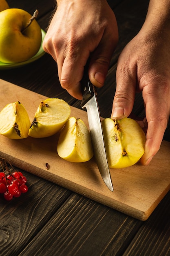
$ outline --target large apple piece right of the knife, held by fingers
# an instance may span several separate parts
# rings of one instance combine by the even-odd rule
[[[104,141],[110,168],[125,168],[136,164],[145,152],[146,135],[130,118],[102,121]]]

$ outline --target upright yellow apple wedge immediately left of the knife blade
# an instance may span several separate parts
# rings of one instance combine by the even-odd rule
[[[86,162],[93,157],[91,135],[81,119],[68,119],[60,133],[57,153],[69,162]]]

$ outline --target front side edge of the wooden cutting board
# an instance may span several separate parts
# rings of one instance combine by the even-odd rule
[[[131,207],[127,204],[124,204],[115,199],[110,199],[104,195],[101,195],[100,193],[95,193],[95,197],[93,195],[93,191],[91,191],[88,188],[85,188],[84,190],[82,190],[82,186],[80,184],[76,184],[70,180],[66,180],[64,182],[64,179],[61,178],[60,176],[55,175],[55,180],[53,178],[53,175],[51,175],[51,173],[47,173],[46,170],[43,170],[42,168],[39,167],[35,167],[32,164],[29,164],[28,162],[24,162],[21,159],[17,159],[16,157],[12,157],[11,155],[7,155],[6,153],[0,152],[1,157],[7,159],[7,161],[9,161],[14,167],[16,168],[21,168],[24,171],[27,171],[29,173],[32,173],[33,175],[37,175],[38,177],[41,177],[45,180],[48,180],[50,182],[53,182],[55,184],[57,184],[58,186],[62,186],[66,189],[69,189],[70,191],[73,191],[75,193],[78,193],[82,196],[85,196],[86,198],[89,198],[91,200],[94,200],[95,202],[98,202],[100,204],[104,204],[107,207],[110,207],[111,209],[117,210],[123,214],[126,214],[132,218],[141,220],[141,221],[145,221],[149,218],[150,214],[152,213],[152,211],[154,211],[154,209],[157,207],[157,205],[159,204],[159,202],[163,199],[163,197],[166,195],[166,193],[168,193],[169,189],[166,189],[166,193],[162,193],[161,197],[159,197],[159,200],[157,200],[157,204],[155,206],[151,206],[147,211],[142,211],[140,209],[136,209],[134,207]],[[36,171],[35,171],[36,169]],[[82,193],[83,191],[83,193]],[[92,192],[92,193],[89,193]],[[113,192],[114,193],[114,192]],[[92,196],[90,196],[92,195]],[[107,198],[107,200],[106,200]]]

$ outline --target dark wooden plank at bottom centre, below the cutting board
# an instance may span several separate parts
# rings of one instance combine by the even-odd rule
[[[121,255],[142,222],[72,194],[20,256]]]

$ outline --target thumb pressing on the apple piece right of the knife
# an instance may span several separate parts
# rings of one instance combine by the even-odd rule
[[[120,71],[116,73],[116,92],[113,99],[113,108],[111,113],[112,119],[121,119],[128,117],[132,112],[135,101],[136,91],[136,73],[130,74],[130,70]]]

